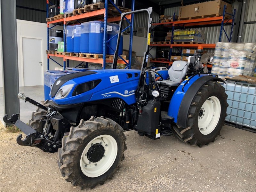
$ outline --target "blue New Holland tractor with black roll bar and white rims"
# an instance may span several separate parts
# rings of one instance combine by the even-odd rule
[[[150,39],[151,8],[123,13],[148,13]],[[124,160],[124,131],[135,130],[152,140],[174,133],[190,145],[208,145],[224,125],[227,95],[222,79],[194,71],[186,77],[186,61],[175,61],[168,78],[147,68],[148,46],[141,70],[86,70],[58,78],[51,88],[50,101],[40,104],[19,93],[18,97],[37,106],[29,124],[19,114],[4,122],[26,134],[17,143],[58,152],[58,165],[66,181],[82,189],[94,188],[112,178]],[[192,69],[193,70],[193,69]],[[158,78],[155,78],[155,74]],[[158,80],[156,80],[158,79]],[[224,82],[223,82],[224,83]],[[159,147],[159,146],[158,146]]]

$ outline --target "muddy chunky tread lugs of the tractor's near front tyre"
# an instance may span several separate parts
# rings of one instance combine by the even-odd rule
[[[82,144],[84,144],[84,140],[86,140],[92,132],[103,129],[116,132],[121,139],[122,147],[119,162],[117,163],[116,168],[111,170],[107,177],[99,176],[98,178],[101,177],[99,180],[96,179],[93,182],[85,182],[81,177],[76,175],[79,174],[79,169],[81,169],[80,165],[78,168],[75,163],[77,159],[76,155],[78,154],[78,150],[83,147]],[[116,170],[119,170],[120,161],[124,160],[124,151],[127,149],[125,140],[126,136],[124,135],[122,127],[109,118],[92,117],[88,121],[82,119],[77,127],[72,126],[70,128],[69,135],[62,139],[62,148],[58,149],[58,165],[62,176],[67,182],[71,182],[72,185],[79,186],[81,189],[84,189],[85,187],[90,187],[92,189],[98,184],[103,185],[107,179],[112,178]]]

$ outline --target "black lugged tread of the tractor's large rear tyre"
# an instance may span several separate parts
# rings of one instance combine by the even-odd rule
[[[214,142],[214,138],[211,138],[208,141],[203,141],[200,137],[195,136],[195,129],[198,129],[197,122],[195,122],[195,119],[197,121],[198,114],[196,113],[196,109],[198,107],[198,103],[202,100],[202,95],[206,92],[209,92],[210,90],[219,90],[219,94],[221,94],[221,97],[224,98],[225,103],[221,106],[221,114],[220,114],[220,119],[223,119],[221,124],[218,126],[218,134],[220,134],[220,129],[224,126],[224,119],[227,116],[226,110],[228,107],[227,103],[227,98],[228,95],[225,93],[225,88],[221,86],[218,82],[215,81],[210,81],[207,82],[200,90],[197,92],[195,99],[193,100],[193,103],[190,107],[189,110],[189,115],[188,115],[188,123],[186,128],[178,127],[176,124],[173,125],[173,129],[176,132],[176,136],[183,142],[190,144],[192,146],[199,146],[201,147],[202,145],[208,145],[209,142]],[[222,111],[223,110],[223,111]],[[195,118],[196,117],[196,118]],[[215,128],[216,129],[216,128]],[[211,133],[210,133],[211,134]],[[209,135],[210,135],[209,134]]]

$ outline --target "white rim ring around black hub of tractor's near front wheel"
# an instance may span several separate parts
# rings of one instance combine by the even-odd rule
[[[102,142],[102,143],[101,143]],[[104,156],[98,162],[91,162],[88,159],[88,150],[91,148],[91,144],[100,144],[104,147]],[[84,148],[80,159],[80,167],[84,175],[87,177],[99,177],[107,172],[116,160],[117,155],[117,143],[114,137],[111,135],[100,135],[91,140]]]

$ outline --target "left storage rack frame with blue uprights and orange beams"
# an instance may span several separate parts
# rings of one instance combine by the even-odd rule
[[[131,6],[131,10],[134,11],[134,1],[132,0],[132,6]],[[49,9],[49,4],[52,4],[49,0],[46,0],[46,17],[49,17],[49,13],[48,13],[48,9]],[[67,67],[69,67],[69,60],[76,60],[76,61],[82,61],[79,65],[81,65],[82,63],[86,62],[86,67],[88,66],[88,62],[90,63],[99,63],[102,64],[102,68],[105,69],[106,67],[106,63],[112,63],[113,60],[109,60],[106,59],[106,48],[108,46],[108,42],[114,38],[112,37],[111,39],[107,40],[106,36],[107,36],[107,22],[114,22],[114,21],[120,21],[121,17],[112,17],[112,18],[108,18],[108,4],[112,4],[116,10],[119,13],[122,13],[120,11],[120,9],[114,4],[114,2],[112,0],[105,0],[105,8],[104,9],[99,9],[96,11],[92,11],[92,12],[86,12],[83,14],[79,14],[79,15],[75,15],[75,16],[71,16],[71,17],[64,17],[62,19],[59,20],[53,20],[53,21],[48,21],[47,22],[47,50],[49,50],[49,29],[55,27],[58,24],[63,24],[63,41],[64,41],[64,52],[66,51],[66,25],[67,22],[69,21],[76,21],[77,23],[80,23],[79,20],[81,19],[88,19],[88,18],[92,18],[95,16],[99,16],[99,15],[104,15],[104,19],[102,19],[101,21],[104,21],[104,34],[103,34],[103,59],[92,59],[92,58],[81,58],[81,57],[72,57],[72,56],[67,56],[67,55],[55,55],[55,54],[47,54],[47,70],[49,70],[49,65],[50,65],[50,59],[52,61],[54,61],[55,63],[57,63],[58,65],[60,65],[61,67],[63,67],[63,69],[65,70],[66,68],[66,62],[67,62]],[[131,58],[132,58],[132,38],[133,38],[133,14],[128,15],[127,17],[125,17],[125,19],[129,22],[129,26],[124,28],[122,30],[125,31],[127,28],[131,28],[131,33],[130,33],[130,43],[129,43],[129,59],[128,60],[124,60],[120,55],[119,56],[119,60],[118,63],[122,63],[122,64],[126,64],[125,68],[131,68]],[[97,20],[97,19],[95,19]],[[130,21],[131,20],[131,21]],[[53,24],[52,27],[50,27],[50,24]],[[63,58],[63,66],[58,63],[57,61],[55,61],[54,59],[52,59],[52,57],[62,57]],[[79,65],[77,65],[76,67],[78,67]]]

